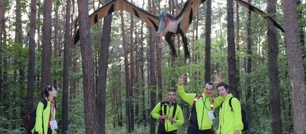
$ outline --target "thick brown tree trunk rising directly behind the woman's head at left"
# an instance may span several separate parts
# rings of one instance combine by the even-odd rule
[[[40,91],[50,84],[51,73],[51,14],[52,0],[44,0],[43,2],[43,42],[41,54],[41,81]],[[43,98],[39,98],[41,100]]]

